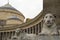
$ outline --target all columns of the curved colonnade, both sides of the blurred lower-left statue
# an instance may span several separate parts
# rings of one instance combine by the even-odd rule
[[[25,33],[28,33],[28,34],[39,34],[41,32],[41,27],[42,27],[42,22],[32,26],[32,27],[29,27],[27,29],[23,29]],[[10,39],[12,36],[15,35],[15,31],[10,31],[10,32],[0,32],[0,40],[7,40]]]

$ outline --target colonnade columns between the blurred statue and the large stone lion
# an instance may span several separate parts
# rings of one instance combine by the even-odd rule
[[[24,29],[24,32],[29,33],[29,34],[38,34],[41,32],[41,27],[42,27],[42,22],[40,22],[32,27],[29,27],[27,29]]]

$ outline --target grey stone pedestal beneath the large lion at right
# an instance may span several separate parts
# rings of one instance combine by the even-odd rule
[[[60,40],[60,35],[45,35],[41,34],[38,36],[38,40]]]

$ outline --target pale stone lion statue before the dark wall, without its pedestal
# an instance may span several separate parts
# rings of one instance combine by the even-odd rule
[[[55,16],[53,14],[48,13],[44,16],[41,34],[58,34]]]

